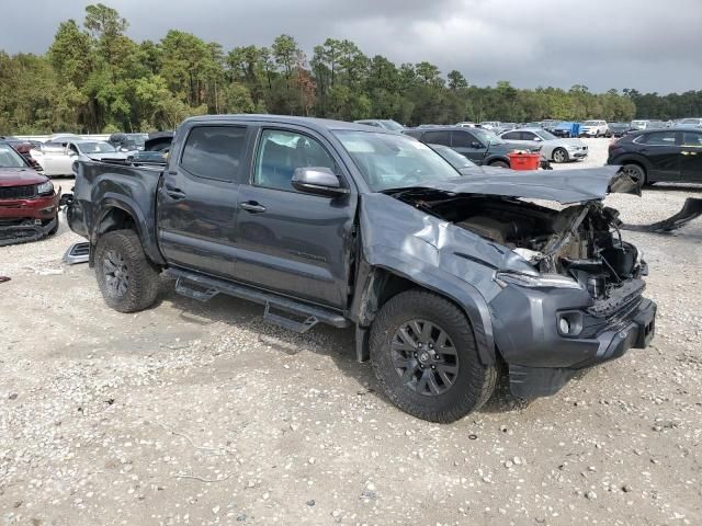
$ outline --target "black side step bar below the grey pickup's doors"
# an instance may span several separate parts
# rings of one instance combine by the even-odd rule
[[[178,294],[197,301],[208,301],[217,294],[248,299],[265,306],[264,320],[298,333],[307,332],[319,322],[337,328],[346,328],[351,324],[343,316],[331,309],[303,304],[247,285],[225,282],[224,279],[203,276],[181,268],[167,268],[165,274],[176,279],[176,291]],[[272,310],[303,318],[303,320],[298,321]]]

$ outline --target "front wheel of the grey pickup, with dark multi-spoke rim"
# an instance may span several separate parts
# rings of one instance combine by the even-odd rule
[[[431,342],[443,351],[437,353]],[[385,396],[418,419],[454,422],[479,409],[495,390],[497,366],[480,363],[469,321],[435,294],[416,289],[389,299],[373,322],[370,347]]]

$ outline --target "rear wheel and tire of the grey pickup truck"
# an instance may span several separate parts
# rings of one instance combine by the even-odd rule
[[[134,230],[114,230],[100,237],[95,276],[105,304],[118,312],[144,310],[156,301],[158,271],[146,259]]]

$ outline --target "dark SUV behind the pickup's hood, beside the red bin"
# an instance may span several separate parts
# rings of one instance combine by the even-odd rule
[[[449,146],[478,165],[510,168],[508,153],[529,149],[524,148],[524,145],[506,142],[495,134],[480,128],[438,126],[429,129],[407,129],[403,133],[424,144]]]

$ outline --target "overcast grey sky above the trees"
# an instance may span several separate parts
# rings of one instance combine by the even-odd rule
[[[7,4],[5,4],[7,3]],[[44,53],[84,0],[7,1],[0,48]],[[471,83],[519,88],[585,84],[591,91],[702,89],[702,0],[103,0],[136,41],[169,28],[235,46],[281,33],[312,55],[327,37],[369,56],[429,60]]]

